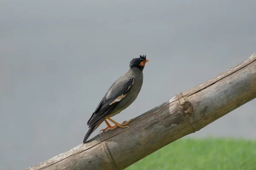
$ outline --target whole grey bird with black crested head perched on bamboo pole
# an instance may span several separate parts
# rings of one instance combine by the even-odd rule
[[[143,69],[146,62],[148,62],[146,55],[132,59],[130,62],[130,68],[122,76],[116,79],[115,82],[113,82],[87,122],[89,130],[84,136],[83,143],[87,141],[90,134],[93,133],[93,131],[96,130],[103,121],[107,124],[107,127],[99,132],[104,132],[108,128],[113,130],[116,127],[128,127],[126,125],[128,125],[132,119],[128,122],[124,121],[119,124],[110,117],[123,111],[137,98],[143,84]],[[111,126],[107,119],[114,125]]]

